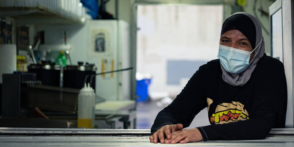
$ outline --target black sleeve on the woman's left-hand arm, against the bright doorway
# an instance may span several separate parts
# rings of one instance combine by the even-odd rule
[[[151,135],[167,124],[182,123],[184,128],[188,127],[195,115],[207,107],[203,82],[205,68],[206,65],[202,65],[175,100],[158,113],[151,127]]]

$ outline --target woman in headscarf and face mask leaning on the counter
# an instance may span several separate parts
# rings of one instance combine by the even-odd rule
[[[262,30],[253,15],[237,12],[224,21],[217,57],[202,65],[159,112],[150,142],[264,139],[271,128],[284,128],[284,66],[266,56]],[[205,107],[211,125],[183,129]]]

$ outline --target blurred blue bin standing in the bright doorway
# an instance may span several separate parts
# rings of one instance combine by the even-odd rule
[[[148,86],[151,79],[137,80],[136,94],[139,96],[137,102],[146,102],[148,100]]]

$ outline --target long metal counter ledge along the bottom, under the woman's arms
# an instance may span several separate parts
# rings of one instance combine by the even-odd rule
[[[154,144],[146,129],[0,128],[0,146],[294,146],[294,129],[272,129],[265,140]]]

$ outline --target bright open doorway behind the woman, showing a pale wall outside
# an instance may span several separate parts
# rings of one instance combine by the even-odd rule
[[[166,97],[174,99],[199,66],[217,59],[222,22],[223,5],[137,5],[137,81],[151,80],[148,97],[140,93],[136,129],[150,129]],[[194,120],[192,128],[209,125],[207,109]]]

